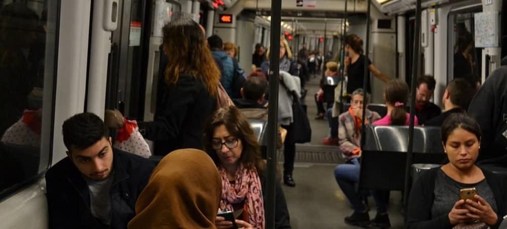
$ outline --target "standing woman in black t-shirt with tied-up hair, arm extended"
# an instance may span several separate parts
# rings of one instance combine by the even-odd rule
[[[358,88],[364,87],[365,80],[365,55],[363,55],[363,40],[356,34],[347,35],[345,39],[345,70],[348,75],[347,94],[352,94]],[[375,75],[376,78],[383,82],[389,79],[382,74],[370,60],[368,60],[368,69]],[[370,77],[367,78],[367,87],[365,90],[372,93]]]

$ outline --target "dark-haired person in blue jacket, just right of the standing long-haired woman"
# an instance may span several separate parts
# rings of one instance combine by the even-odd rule
[[[215,58],[222,60],[224,65],[224,74],[220,78],[220,83],[224,87],[229,97],[233,97],[233,81],[234,81],[234,61],[224,51],[224,43],[219,35],[212,35],[208,37],[208,45],[211,49],[211,54]]]

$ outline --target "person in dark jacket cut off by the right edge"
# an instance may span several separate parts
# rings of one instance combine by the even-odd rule
[[[507,66],[489,75],[470,102],[468,114],[482,131],[477,164],[507,168]]]

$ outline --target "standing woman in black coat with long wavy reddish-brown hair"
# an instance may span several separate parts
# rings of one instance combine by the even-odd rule
[[[159,87],[163,96],[157,101],[154,121],[138,121],[139,131],[144,138],[155,141],[154,155],[180,148],[202,149],[204,123],[216,109],[219,68],[209,51],[204,29],[194,20],[176,19],[162,32],[168,59],[166,87]]]

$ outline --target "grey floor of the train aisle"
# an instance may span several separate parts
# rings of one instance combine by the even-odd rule
[[[294,179],[296,187],[283,185],[283,192],[291,214],[293,228],[360,228],[345,224],[344,218],[352,214],[352,208],[336,183],[333,175],[336,165],[343,163],[337,146],[325,146],[322,139],[328,137],[326,119],[315,120],[316,105],[313,99],[318,91],[319,77],[307,82],[305,103],[312,127],[312,141],[297,144]],[[283,156],[278,160],[282,168]],[[370,217],[375,217],[375,201],[370,197]],[[391,228],[403,228],[402,194],[391,192],[389,218]]]

